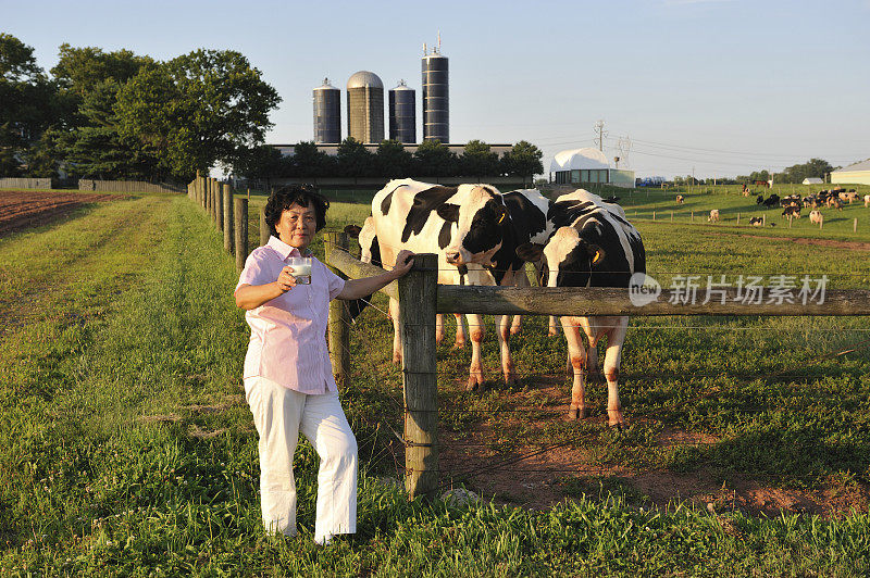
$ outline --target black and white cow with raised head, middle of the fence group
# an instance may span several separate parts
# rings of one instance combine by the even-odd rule
[[[544,242],[550,236],[552,224],[547,219],[550,201],[536,189],[522,189],[499,193],[495,187],[474,186],[458,191],[445,203],[438,215],[456,224],[450,243],[445,250],[447,262],[457,266],[478,265],[489,274],[484,285],[529,286],[525,262],[517,255],[517,248],[527,242]],[[472,319],[475,316],[469,316]],[[501,351],[501,370],[507,384],[517,380],[510,359],[510,316],[497,315],[496,325]],[[481,316],[469,322],[472,344],[483,339]],[[475,331],[477,329],[477,331]],[[556,332],[551,319],[550,334]],[[480,373],[475,373],[480,370]],[[483,384],[483,367],[472,350],[472,369],[469,389]]]

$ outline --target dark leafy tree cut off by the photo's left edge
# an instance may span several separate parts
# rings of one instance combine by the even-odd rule
[[[0,33],[0,175],[24,168],[27,149],[54,116],[53,95],[33,47]]]

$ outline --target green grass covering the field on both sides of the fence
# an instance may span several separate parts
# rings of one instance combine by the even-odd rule
[[[671,192],[625,202],[629,216],[635,208],[638,215],[669,211]],[[751,201],[734,197],[687,201],[698,211],[738,211]],[[263,201],[252,196],[254,246],[254,206]],[[870,210],[843,213],[841,228],[834,218],[825,224],[826,238],[869,242]],[[364,205],[335,203],[328,227],[366,214]],[[664,279],[674,272],[825,273],[831,288],[866,288],[870,279],[870,252],[794,242],[819,233],[796,223],[791,235],[765,229],[772,239],[728,223],[658,223],[658,214],[656,223],[637,223],[649,271]],[[0,239],[2,574],[870,571],[870,355],[856,345],[870,338],[866,318],[632,319],[620,388],[630,426],[621,436],[604,427],[600,386],[589,388],[599,407],[593,418],[561,418],[564,344],[546,336],[544,319],[527,319],[513,341],[523,378],[514,390],[495,379],[494,339],[485,344],[493,388],[483,394],[462,391],[469,350],[439,347],[445,439],[486,431],[482,469],[530,445],[560,443],[583,448],[605,472],[705,472],[729,487],[750,479],[858,495],[855,512],[767,517],[721,504],[711,514],[676,499],[657,507],[622,475],[566,474],[559,485],[574,499],[546,510],[520,507],[505,492],[462,507],[409,503],[384,481],[396,475],[389,427],[400,431],[400,373],[389,363],[388,323],[370,307],[352,332],[355,379],[344,392],[363,463],[359,533],[319,550],[311,540],[316,458],[306,443],[296,456],[300,535],[262,533],[236,278],[221,236],[186,197],[90,205]],[[562,398],[542,382],[556,384]],[[527,419],[512,418],[517,412]],[[666,430],[711,441],[664,447],[657,440]],[[455,481],[474,489],[477,480]]]

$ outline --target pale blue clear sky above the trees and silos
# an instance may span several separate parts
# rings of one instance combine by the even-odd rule
[[[238,50],[283,99],[273,143],[312,138],[311,90],[327,76],[343,89],[360,70],[385,88],[405,78],[419,109],[423,43],[440,32],[450,140],[530,140],[545,169],[559,150],[592,146],[599,118],[605,153],[629,137],[638,175],[870,156],[870,0],[0,0],[0,15],[46,70],[62,42],[161,60]]]

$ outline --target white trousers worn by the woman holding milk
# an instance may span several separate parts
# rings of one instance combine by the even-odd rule
[[[320,456],[314,539],[357,531],[357,438],[338,393],[309,395],[263,377],[245,380],[260,435],[260,500],[266,531],[296,533],[293,454],[299,431]]]

